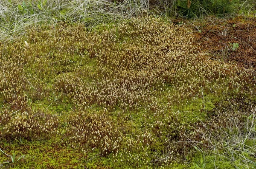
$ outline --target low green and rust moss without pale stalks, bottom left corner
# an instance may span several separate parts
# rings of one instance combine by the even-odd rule
[[[31,143],[17,140],[11,144],[2,142],[1,145],[3,145],[2,150],[7,154],[16,156],[16,161],[12,163],[8,156],[1,154],[0,163],[6,161],[11,163],[4,164],[4,167],[7,168],[82,168],[82,164],[88,160],[87,155],[51,141]],[[22,155],[25,156],[17,161]]]

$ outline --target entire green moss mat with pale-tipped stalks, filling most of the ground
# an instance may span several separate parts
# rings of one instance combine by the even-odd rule
[[[253,73],[193,42],[190,29],[144,17],[41,25],[1,43],[1,167],[197,167],[198,151],[253,138]],[[24,158],[4,163],[13,153]]]

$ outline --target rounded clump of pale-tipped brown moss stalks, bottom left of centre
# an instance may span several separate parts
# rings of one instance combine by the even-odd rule
[[[115,122],[103,113],[71,112],[65,130],[66,144],[85,152],[99,149],[101,155],[118,151],[122,140]]]

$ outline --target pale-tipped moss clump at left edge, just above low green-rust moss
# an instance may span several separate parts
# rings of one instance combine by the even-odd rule
[[[26,138],[27,140],[47,139],[58,133],[56,115],[38,111],[5,110],[0,112],[0,135],[7,140]]]

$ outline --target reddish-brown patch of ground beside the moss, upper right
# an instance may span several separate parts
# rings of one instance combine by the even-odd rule
[[[186,22],[185,25],[190,28],[192,26],[197,37],[195,44],[214,54],[213,59],[230,61],[239,67],[256,70],[255,17],[236,17],[230,20],[213,18],[193,23]],[[233,43],[239,43],[239,48],[235,51],[232,50]]]

